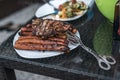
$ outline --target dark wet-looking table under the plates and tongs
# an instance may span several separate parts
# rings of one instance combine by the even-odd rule
[[[92,48],[95,48],[95,37],[100,27],[100,24],[106,22],[97,7],[93,8],[93,17],[88,19],[88,13],[80,19],[69,22],[73,24],[80,32],[83,43]],[[89,15],[91,15],[89,13]],[[86,21],[87,20],[87,21]],[[107,21],[108,22],[108,21]],[[112,23],[110,23],[112,24]],[[104,26],[103,26],[104,27]],[[113,27],[107,26],[108,30],[111,31],[109,36],[112,39]],[[103,29],[104,30],[104,29]],[[102,32],[103,30],[100,30]],[[109,33],[108,31],[104,31]],[[15,35],[15,34],[14,34]],[[55,57],[44,58],[44,59],[25,59],[20,57],[13,48],[13,38],[11,35],[8,40],[4,41],[0,45],[0,80],[16,80],[14,69],[28,71],[32,73],[42,74],[55,78],[65,80],[120,80],[120,60],[119,60],[119,46],[120,42],[112,39],[112,50],[113,55],[117,63],[112,66],[108,71],[99,68],[97,60],[88,52],[83,50],[81,47],[77,47],[72,50],[69,54],[62,54]],[[102,41],[107,36],[97,36],[100,44],[106,43]],[[96,38],[96,39],[98,39]],[[98,45],[100,47],[101,45]],[[109,50],[106,46],[106,51]],[[102,48],[99,48],[102,50]]]

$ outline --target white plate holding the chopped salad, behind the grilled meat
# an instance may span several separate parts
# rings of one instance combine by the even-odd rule
[[[58,6],[60,4],[66,2],[66,1],[68,1],[68,0],[53,0],[53,1],[50,1],[50,3],[52,3],[56,8],[58,8]],[[77,1],[84,1],[86,6],[88,7],[88,6],[91,6],[91,2],[94,0],[77,0]],[[35,16],[39,18],[39,17],[42,17],[44,15],[51,14],[53,12],[54,12],[53,7],[51,7],[48,4],[45,4],[37,9]],[[61,20],[61,21],[72,21],[72,20],[75,20],[75,19],[82,17],[86,12],[87,12],[87,9],[85,11],[83,11],[82,14],[75,16],[75,17],[67,18],[67,19],[56,18],[55,16],[51,16],[51,15],[46,16],[45,18],[54,19],[54,20]]]

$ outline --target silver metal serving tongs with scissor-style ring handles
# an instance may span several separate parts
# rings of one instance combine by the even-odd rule
[[[112,56],[101,56],[98,55],[96,51],[92,50],[91,48],[85,46],[80,37],[76,36],[70,31],[67,31],[68,41],[72,45],[79,44],[84,50],[91,53],[98,61],[100,68],[104,70],[109,70],[111,65],[116,63],[116,60]]]

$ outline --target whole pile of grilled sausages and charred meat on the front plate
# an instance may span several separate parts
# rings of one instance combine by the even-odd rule
[[[66,31],[76,33],[76,29],[68,23],[51,19],[34,19],[20,29],[20,37],[14,48],[20,50],[41,50],[69,52]]]

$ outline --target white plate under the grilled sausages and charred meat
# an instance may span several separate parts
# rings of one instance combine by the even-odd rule
[[[79,33],[77,32],[76,35],[78,37],[80,37]],[[16,40],[18,40],[19,38],[19,34],[17,33],[14,37],[13,40],[13,46],[16,42]],[[79,45],[79,44],[78,44]],[[72,45],[72,44],[68,44],[68,47],[70,48],[70,50],[75,49],[78,45]],[[14,48],[15,49],[15,48]],[[58,52],[58,51],[32,51],[32,50],[18,50],[15,49],[15,51],[17,52],[17,54],[23,58],[29,58],[29,59],[37,59],[37,58],[47,58],[47,57],[53,57],[53,56],[58,56],[63,54],[63,52]]]

